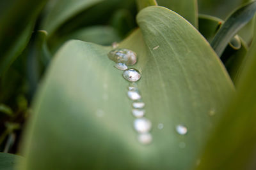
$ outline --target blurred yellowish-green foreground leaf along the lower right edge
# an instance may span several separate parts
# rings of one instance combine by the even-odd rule
[[[237,95],[202,153],[198,169],[255,169],[256,39],[246,56]]]

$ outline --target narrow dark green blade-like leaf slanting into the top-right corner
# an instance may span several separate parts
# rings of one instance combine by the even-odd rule
[[[228,17],[211,42],[212,48],[219,56],[221,56],[228,42],[234,37],[237,31],[252,19],[255,12],[256,1],[252,1],[237,9]]]

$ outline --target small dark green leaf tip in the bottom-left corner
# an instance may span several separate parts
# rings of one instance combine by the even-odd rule
[[[17,167],[17,164],[21,160],[24,160],[24,159],[18,155],[0,152],[0,169],[14,170],[15,167]]]

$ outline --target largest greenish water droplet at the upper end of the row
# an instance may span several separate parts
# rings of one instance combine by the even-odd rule
[[[132,52],[132,50],[119,48],[116,50],[111,50],[108,53],[108,58],[116,63],[124,63],[127,66],[132,66],[137,62],[137,54]]]

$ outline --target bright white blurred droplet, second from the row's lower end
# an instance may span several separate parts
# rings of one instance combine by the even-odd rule
[[[137,118],[134,120],[134,129],[139,133],[149,132],[151,129],[151,122],[147,118]]]

